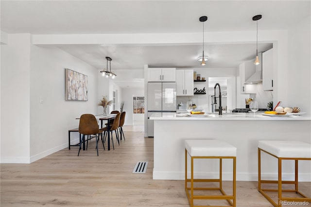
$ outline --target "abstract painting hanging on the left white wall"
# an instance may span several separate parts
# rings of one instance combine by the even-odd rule
[[[87,75],[65,69],[65,100],[87,101]]]

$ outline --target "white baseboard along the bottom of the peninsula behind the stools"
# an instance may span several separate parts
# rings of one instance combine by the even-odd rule
[[[190,172],[188,172],[190,175]],[[195,178],[216,179],[219,178],[218,173],[211,172],[194,172]],[[154,180],[185,180],[184,172],[157,172],[153,170]],[[261,179],[264,180],[277,180],[277,173],[262,173]],[[294,173],[282,173],[283,180],[294,180]],[[298,181],[311,182],[310,173],[299,173]],[[232,180],[232,173],[223,173],[223,180]],[[258,173],[237,173],[237,181],[258,181]]]

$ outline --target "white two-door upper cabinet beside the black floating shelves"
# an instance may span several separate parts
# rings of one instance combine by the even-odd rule
[[[193,69],[176,70],[176,95],[193,96]]]

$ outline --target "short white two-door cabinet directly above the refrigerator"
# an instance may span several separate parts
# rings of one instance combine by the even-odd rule
[[[175,82],[175,68],[148,68],[148,82]]]

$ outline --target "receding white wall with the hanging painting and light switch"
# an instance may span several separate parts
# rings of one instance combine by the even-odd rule
[[[56,47],[31,46],[31,160],[68,146],[68,130],[82,114],[96,114],[97,70]],[[65,68],[88,76],[88,101],[65,101]],[[39,103],[40,97],[43,103]],[[72,133],[72,139],[78,138]],[[78,141],[77,141],[78,142]]]

